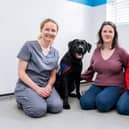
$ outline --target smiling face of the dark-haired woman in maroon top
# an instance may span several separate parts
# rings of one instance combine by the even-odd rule
[[[112,44],[114,39],[114,29],[110,25],[105,25],[101,31],[102,40],[104,43]]]

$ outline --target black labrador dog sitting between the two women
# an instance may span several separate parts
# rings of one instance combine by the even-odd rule
[[[90,52],[91,44],[85,40],[74,39],[68,43],[68,51],[60,62],[55,88],[63,99],[63,108],[70,109],[68,97],[80,98],[80,75],[82,59]],[[72,93],[76,89],[76,93]]]

